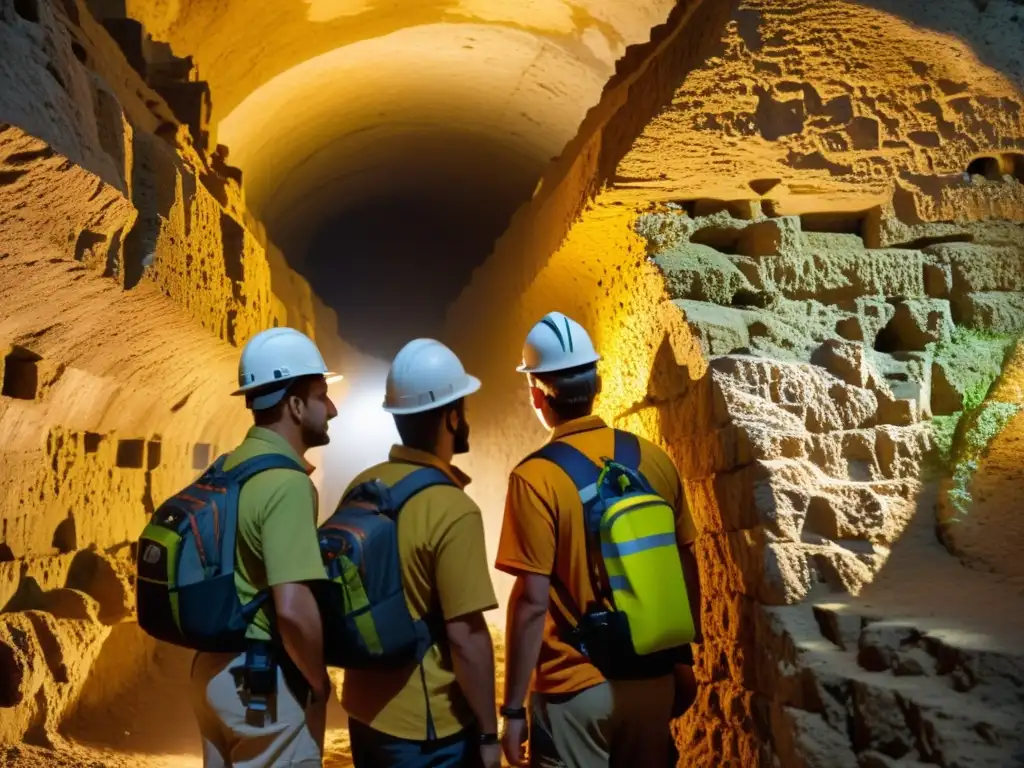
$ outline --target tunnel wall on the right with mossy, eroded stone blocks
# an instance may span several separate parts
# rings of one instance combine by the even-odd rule
[[[680,765],[1002,765],[1020,746],[1019,627],[995,615],[1020,596],[936,537],[1016,568],[992,545],[1018,526],[986,525],[969,492],[1019,424],[985,418],[1019,401],[1014,364],[999,377],[1024,330],[1022,73],[986,47],[1019,16],[940,5],[743,3],[613,169],[585,124],[449,315],[484,384],[466,465],[488,473],[470,490],[492,542],[503,475],[544,439],[514,368],[551,309],[604,355],[601,414],[676,459],[707,627]],[[991,475],[995,514],[1014,475]]]

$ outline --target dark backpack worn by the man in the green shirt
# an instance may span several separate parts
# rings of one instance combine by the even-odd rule
[[[239,494],[268,469],[303,468],[265,454],[230,470],[226,456],[154,512],[138,541],[138,624],[158,640],[207,652],[245,650],[246,629],[266,600],[246,605],[234,588]]]

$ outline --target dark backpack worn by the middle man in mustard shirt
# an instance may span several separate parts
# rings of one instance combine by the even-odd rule
[[[416,469],[388,487],[352,488],[319,527],[327,585],[316,592],[329,667],[371,669],[421,662],[438,628],[414,620],[406,604],[398,555],[398,514],[417,494],[455,483],[438,469]]]

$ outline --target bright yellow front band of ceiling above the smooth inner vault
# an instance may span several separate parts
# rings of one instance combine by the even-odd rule
[[[543,37],[610,75],[647,39],[673,0],[128,0],[128,13],[179,55],[214,93],[214,121],[276,75],[322,53],[403,29],[486,24]],[[219,30],[220,34],[211,34]],[[441,51],[437,51],[442,53]]]

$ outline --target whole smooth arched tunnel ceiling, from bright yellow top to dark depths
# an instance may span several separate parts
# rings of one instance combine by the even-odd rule
[[[439,332],[673,0],[129,2],[210,84],[250,210],[339,315],[388,356]],[[221,34],[210,34],[211,30]],[[228,31],[230,34],[227,34]]]

